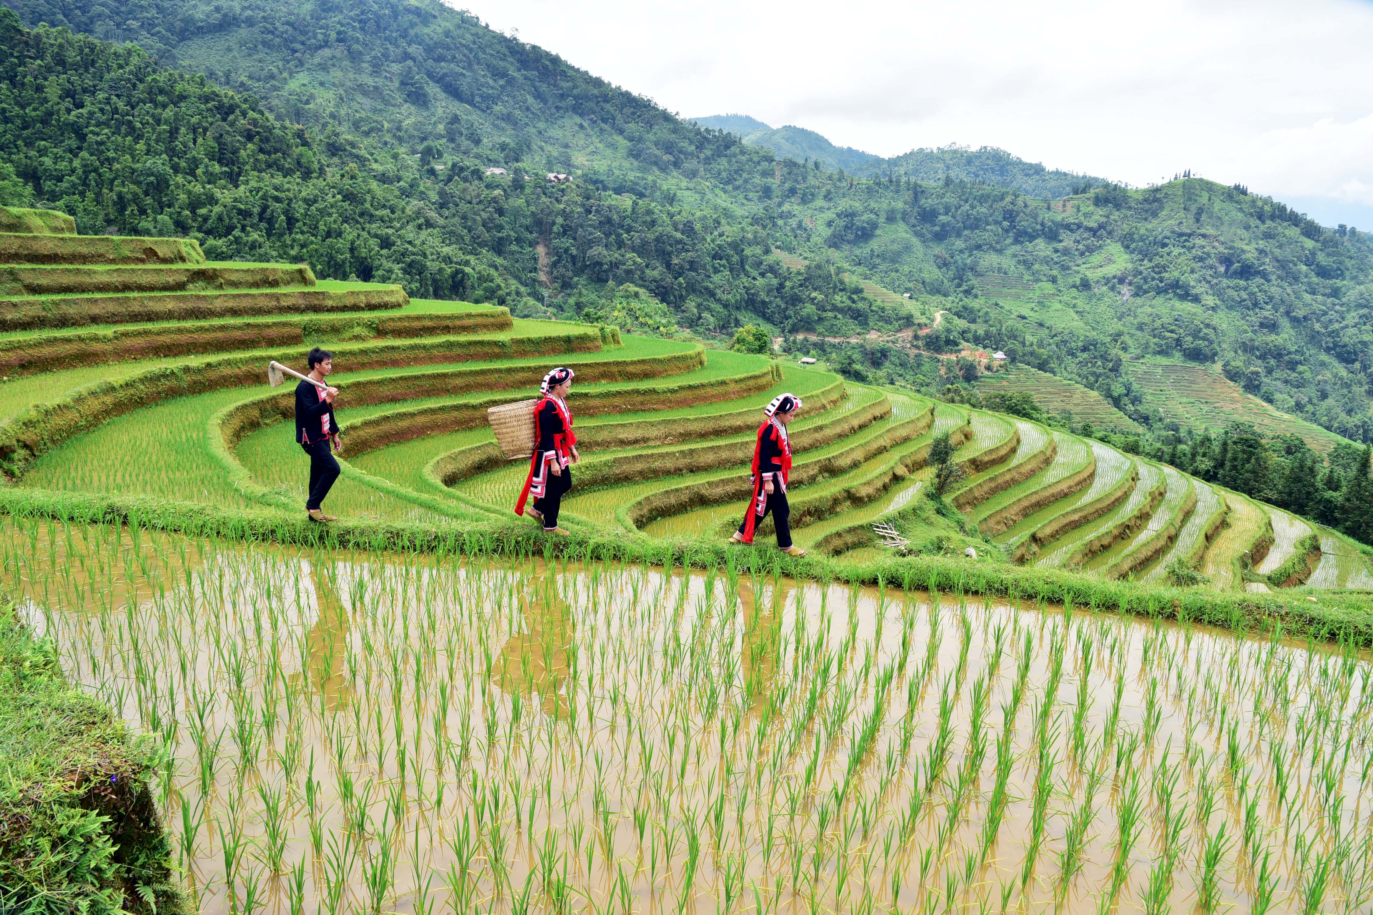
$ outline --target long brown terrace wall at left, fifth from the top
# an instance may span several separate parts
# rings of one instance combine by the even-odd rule
[[[509,328],[509,311],[490,309],[490,311],[450,314],[325,314],[279,321],[207,321],[51,333],[0,340],[0,375],[14,377],[82,365],[137,362],[292,343],[320,343],[332,347],[346,340],[496,333]]]

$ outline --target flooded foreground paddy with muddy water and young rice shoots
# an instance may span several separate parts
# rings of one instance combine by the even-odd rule
[[[1368,911],[1368,657],[1032,604],[0,525],[202,912]]]

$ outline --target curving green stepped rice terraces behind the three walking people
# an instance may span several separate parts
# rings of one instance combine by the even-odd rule
[[[32,295],[5,299],[11,324],[26,314],[23,320],[37,321],[0,333],[0,361],[11,359],[7,365],[18,366],[16,372],[29,372],[0,381],[0,462],[18,487],[298,514],[306,462],[291,435],[290,394],[288,388],[270,394],[262,385],[262,366],[269,358],[299,364],[309,333],[335,340],[335,379],[343,390],[338,416],[349,449],[330,510],[351,520],[424,528],[514,523],[509,509],[526,465],[501,462],[485,428],[485,409],[531,395],[542,372],[556,364],[578,369],[574,412],[578,403],[601,405],[578,416],[578,429],[589,442],[615,443],[584,449],[584,464],[574,468],[577,486],[566,499],[564,517],[578,530],[610,528],[616,536],[725,534],[743,510],[743,497],[735,490],[746,476],[752,428],[762,418],[758,409],[781,391],[811,403],[792,427],[800,446],[791,501],[802,543],[840,531],[849,538],[844,542],[857,543],[862,538],[849,534],[924,499],[930,472],[919,469],[921,450],[935,433],[954,429],[962,429],[956,458],[971,461],[973,472],[947,498],[978,525],[1004,509],[1015,509],[1005,523],[1032,512],[995,534],[997,543],[1013,553],[1026,538],[1050,531],[1042,539],[1056,542],[1037,558],[1061,562],[1064,549],[1109,530],[1142,498],[1135,487],[1107,514],[1089,517],[1086,509],[1101,506],[1104,495],[1126,498],[1120,484],[1131,461],[1068,433],[1054,432],[1050,439],[1048,429],[1024,420],[939,405],[930,429],[913,423],[920,416],[928,423],[927,401],[865,385],[846,388],[822,370],[706,353],[691,343],[621,337],[612,328],[514,320],[489,306],[412,302],[395,287],[317,283],[295,265],[192,263],[192,243],[166,241],[163,247],[189,261],[118,266],[99,274],[77,266],[51,273],[30,266],[11,270],[11,278],[44,289],[73,283],[99,287],[104,296],[58,289],[58,295],[76,296],[70,302],[95,309],[85,316],[62,303],[51,313],[30,314]],[[227,296],[185,292],[189,270],[258,285],[246,289],[251,296],[238,295],[244,291],[238,285]],[[121,294],[114,288],[118,283],[139,291]],[[309,320],[301,310],[306,294],[324,303]],[[106,322],[85,324],[91,316],[106,316]],[[205,346],[181,355],[157,348],[184,351],[188,339]],[[97,359],[126,361],[73,362],[95,346],[104,347]],[[144,346],[151,348],[139,348]],[[47,370],[40,365],[44,361]],[[989,379],[989,384],[1026,379],[1050,384],[1049,376],[1024,369]],[[847,396],[836,401],[843,390]],[[821,391],[828,394],[821,396]],[[1072,394],[1081,398],[1083,391]],[[579,401],[584,395],[592,401]],[[890,403],[890,416],[881,416],[883,403]],[[1081,407],[1074,414],[1109,425]],[[656,442],[655,429],[663,431]],[[1023,466],[1031,461],[1049,462]],[[452,486],[442,486],[435,468],[445,468],[443,482]],[[1016,483],[1017,476],[1028,479]],[[1035,501],[1045,487],[1070,476],[1082,477],[1074,480],[1078,491],[1060,487]],[[1170,472],[1175,484],[1174,476]],[[1149,525],[1092,565],[1107,569],[1116,557],[1166,531],[1177,492],[1170,486]],[[680,506],[669,505],[678,498]],[[1039,503],[1048,499],[1052,503]],[[1216,549],[1233,539],[1222,535]],[[1282,549],[1280,543],[1267,564],[1281,562]],[[1317,576],[1318,583],[1326,580],[1362,579]]]

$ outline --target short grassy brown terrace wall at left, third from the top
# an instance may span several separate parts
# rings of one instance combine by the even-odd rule
[[[0,295],[205,292],[314,285],[303,263],[183,266],[0,266]]]

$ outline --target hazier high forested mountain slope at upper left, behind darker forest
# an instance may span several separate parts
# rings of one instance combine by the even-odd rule
[[[702,174],[739,144],[438,0],[7,0],[23,23],[130,41],[362,145],[546,171]],[[332,143],[339,144],[339,139]]]

